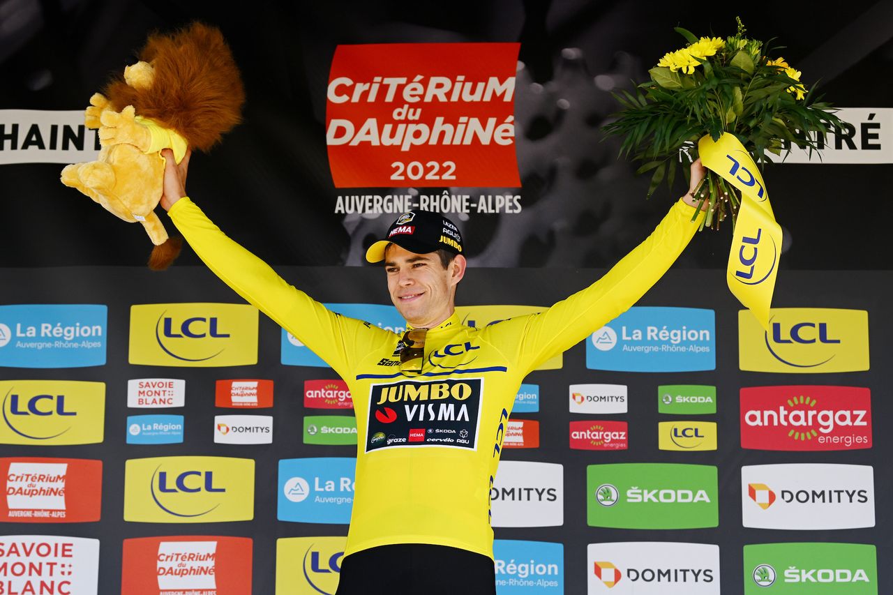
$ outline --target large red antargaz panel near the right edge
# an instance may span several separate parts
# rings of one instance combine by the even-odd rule
[[[741,389],[741,448],[872,448],[871,390],[847,386]]]

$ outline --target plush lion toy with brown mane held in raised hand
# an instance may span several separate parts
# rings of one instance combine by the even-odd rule
[[[139,62],[94,94],[88,128],[99,129],[96,161],[73,163],[62,182],[126,222],[141,222],[155,245],[149,268],[167,268],[179,255],[154,214],[162,197],[163,148],[177,163],[188,148],[207,151],[241,120],[245,91],[219,29],[193,23],[171,35],[152,35]]]

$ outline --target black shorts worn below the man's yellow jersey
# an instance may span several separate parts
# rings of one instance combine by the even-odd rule
[[[404,543],[341,561],[336,595],[496,595],[493,560],[466,549]]]

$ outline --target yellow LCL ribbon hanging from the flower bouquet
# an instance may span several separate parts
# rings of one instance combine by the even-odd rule
[[[741,191],[726,282],[732,294],[769,331],[769,308],[781,256],[781,226],[775,222],[769,191],[756,163],[738,138],[723,132],[697,141],[701,163]]]

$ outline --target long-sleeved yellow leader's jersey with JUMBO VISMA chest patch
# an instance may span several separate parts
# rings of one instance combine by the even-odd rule
[[[346,555],[430,543],[493,557],[490,488],[524,376],[632,306],[697,230],[681,200],[642,244],[586,289],[486,328],[453,314],[428,331],[421,375],[399,372],[401,336],[335,314],[229,239],[188,198],[170,215],[222,281],[347,382],[357,428]]]

